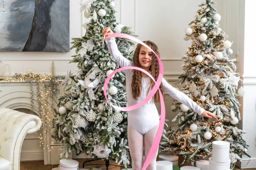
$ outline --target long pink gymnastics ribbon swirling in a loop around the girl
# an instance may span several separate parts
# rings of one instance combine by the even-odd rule
[[[161,104],[160,123],[159,123],[159,127],[157,129],[157,133],[156,133],[156,136],[154,138],[153,144],[152,144],[152,146],[150,148],[150,151],[148,153],[147,159],[145,160],[145,163],[142,167],[142,170],[145,170],[146,167],[148,167],[148,165],[150,164],[150,162],[154,159],[154,156],[157,153],[157,150],[158,150],[158,147],[159,147],[159,144],[160,144],[160,140],[161,140],[161,137],[162,137],[162,134],[163,134],[163,127],[164,127],[165,114],[166,113],[165,113],[165,105],[164,105],[164,101],[163,101],[163,95],[162,95],[162,93],[160,91],[160,88],[159,88],[160,84],[162,82],[162,79],[163,79],[163,63],[161,62],[161,60],[157,56],[157,54],[150,47],[148,47],[148,45],[146,45],[144,42],[138,40],[137,38],[131,37],[130,35],[127,35],[127,34],[115,33],[115,34],[108,35],[106,37],[106,39],[111,38],[111,37],[126,38],[128,40],[133,40],[135,42],[140,43],[141,45],[144,45],[146,48],[148,48],[149,50],[151,50],[155,54],[155,56],[157,57],[158,62],[159,62],[160,69],[159,69],[159,75],[158,75],[157,81],[151,76],[151,74],[148,73],[148,71],[145,71],[144,69],[139,68],[139,67],[129,66],[129,67],[118,68],[115,71],[113,71],[111,74],[109,74],[107,79],[105,80],[104,88],[103,88],[104,96],[105,96],[106,100],[109,102],[108,97],[107,97],[107,87],[108,87],[109,80],[117,72],[122,71],[122,70],[128,70],[128,69],[134,69],[134,70],[142,71],[143,73],[147,74],[151,79],[153,79],[153,81],[156,83],[154,85],[154,87],[152,88],[151,92],[148,94],[148,96],[146,96],[146,98],[143,99],[143,101],[141,101],[140,103],[138,103],[136,105],[132,105],[132,106],[128,106],[128,107],[118,107],[118,106],[113,105],[111,102],[109,102],[109,104],[113,108],[116,108],[117,110],[133,111],[133,110],[135,110],[137,108],[140,108],[141,106],[145,105],[145,103],[147,103],[154,96],[154,94],[157,92],[157,90],[159,91],[160,104]]]

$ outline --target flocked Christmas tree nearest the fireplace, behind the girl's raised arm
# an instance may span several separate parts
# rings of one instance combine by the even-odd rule
[[[84,16],[92,17],[82,38],[73,38],[76,55],[71,62],[78,63],[76,75],[68,72],[63,84],[67,93],[59,98],[55,111],[52,136],[61,142],[64,155],[71,150],[85,153],[95,159],[129,164],[127,140],[127,112],[117,111],[107,104],[103,84],[107,75],[119,68],[103,43],[101,31],[109,27],[115,32],[134,36],[131,28],[118,25],[112,0],[87,0],[81,3]],[[131,58],[133,42],[116,38],[119,51]],[[72,49],[71,48],[71,49]],[[125,75],[119,72],[108,83],[108,99],[117,106],[126,106]]]

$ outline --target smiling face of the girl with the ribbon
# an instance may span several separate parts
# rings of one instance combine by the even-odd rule
[[[153,53],[148,48],[141,46],[139,54],[139,63],[141,68],[144,70],[149,70],[152,63]]]

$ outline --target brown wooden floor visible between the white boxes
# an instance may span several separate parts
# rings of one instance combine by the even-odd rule
[[[83,162],[85,159],[76,159],[79,161],[79,168],[82,168]],[[105,162],[104,161],[92,161],[88,162],[88,165],[84,168],[86,169],[92,169],[92,168],[105,168]],[[104,165],[90,165],[90,164],[104,164]],[[111,164],[116,164],[114,161]],[[26,162],[20,162],[20,170],[52,170],[52,168],[58,167],[58,165],[44,165],[44,161],[26,161]],[[123,168],[115,167],[115,166],[109,166],[110,170],[121,170]],[[239,167],[235,167],[234,170],[240,170]],[[253,169],[243,169],[243,170],[256,170],[256,168]]]

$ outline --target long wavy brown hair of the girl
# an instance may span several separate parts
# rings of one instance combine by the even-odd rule
[[[148,45],[159,57],[159,50],[157,48],[157,45],[154,42],[151,41],[143,41],[146,45]],[[140,62],[139,62],[139,54],[140,54],[140,48],[142,47],[141,44],[138,44],[135,51],[134,51],[134,57],[133,57],[133,63],[135,67],[140,67]],[[159,63],[157,60],[157,57],[155,56],[154,53],[152,53],[152,63],[151,66],[149,67],[149,73],[154,77],[155,80],[157,80],[157,77],[159,75]],[[134,70],[133,76],[132,76],[132,82],[131,82],[131,91],[132,91],[132,97],[137,100],[140,97],[141,94],[141,78],[142,78],[142,72],[138,70]],[[152,89],[155,85],[155,82],[151,79],[150,81],[150,87],[148,89],[148,92],[150,89]],[[161,93],[164,94],[164,91],[162,90],[162,83],[160,85]],[[148,93],[147,92],[147,93]],[[160,96],[159,96],[159,91],[154,95],[154,102],[159,103],[160,102]]]

